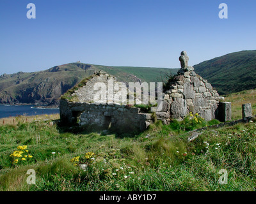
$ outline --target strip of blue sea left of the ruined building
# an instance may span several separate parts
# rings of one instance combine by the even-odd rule
[[[18,115],[42,115],[60,113],[59,108],[44,108],[31,105],[0,105],[0,118]]]

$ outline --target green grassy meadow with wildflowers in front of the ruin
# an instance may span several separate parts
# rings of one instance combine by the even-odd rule
[[[49,122],[0,126],[0,135],[1,191],[255,191],[255,123],[207,129],[190,143],[182,122],[159,121],[133,138],[75,134]],[[33,158],[15,166],[18,145]],[[77,156],[85,171],[70,161]],[[29,169],[36,185],[26,184]],[[221,169],[227,185],[218,184]]]

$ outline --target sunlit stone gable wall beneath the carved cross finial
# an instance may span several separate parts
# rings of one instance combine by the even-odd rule
[[[164,100],[170,103],[172,119],[182,120],[189,112],[198,113],[205,120],[218,118],[218,92],[193,67],[181,69],[170,81]]]

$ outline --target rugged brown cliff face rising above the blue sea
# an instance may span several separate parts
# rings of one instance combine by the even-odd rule
[[[0,103],[58,105],[61,94],[93,71],[88,64],[72,63],[35,73],[1,75]]]

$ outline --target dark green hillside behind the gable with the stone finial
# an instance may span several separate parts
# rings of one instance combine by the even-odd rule
[[[194,66],[219,94],[256,88],[256,50],[234,52]]]

